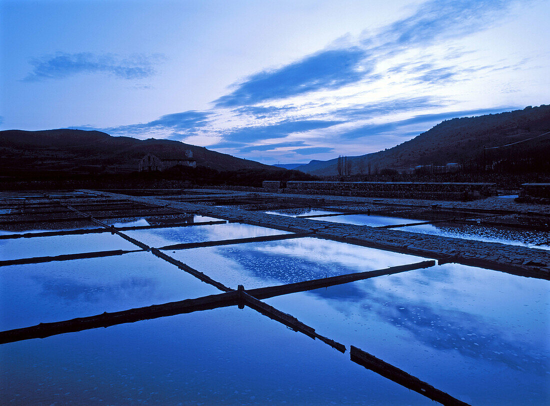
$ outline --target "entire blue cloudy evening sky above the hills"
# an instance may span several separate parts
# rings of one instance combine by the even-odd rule
[[[0,130],[367,154],[550,104],[549,17],[547,0],[0,0]]]

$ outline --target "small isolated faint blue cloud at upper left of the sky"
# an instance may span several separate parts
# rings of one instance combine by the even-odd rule
[[[58,52],[30,61],[32,70],[25,81],[64,79],[81,73],[108,74],[119,79],[145,79],[156,74],[155,66],[164,59],[161,54],[121,58],[115,54]]]

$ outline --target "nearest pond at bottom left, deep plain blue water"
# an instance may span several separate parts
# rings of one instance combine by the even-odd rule
[[[5,344],[0,361],[21,404],[433,403],[248,308]]]

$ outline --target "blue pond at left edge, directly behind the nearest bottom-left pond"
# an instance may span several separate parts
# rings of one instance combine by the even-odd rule
[[[219,291],[149,252],[138,252],[3,266],[0,293],[0,328],[9,330]]]

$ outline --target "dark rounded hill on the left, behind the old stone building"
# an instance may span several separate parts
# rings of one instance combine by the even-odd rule
[[[69,173],[130,173],[138,170],[147,153],[161,159],[177,159],[193,151],[197,166],[218,171],[239,169],[278,170],[252,160],[210,151],[204,147],[171,140],[138,140],[113,137],[101,131],[44,130],[0,131],[0,169],[20,171],[65,171]],[[279,169],[281,170],[281,169]]]

